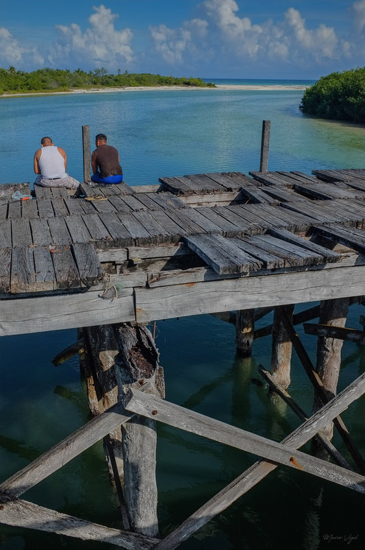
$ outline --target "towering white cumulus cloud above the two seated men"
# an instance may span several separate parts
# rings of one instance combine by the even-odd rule
[[[115,68],[120,62],[133,60],[131,30],[117,30],[114,21],[118,14],[112,14],[112,10],[105,8],[103,4],[93,10],[95,13],[89,17],[90,26],[85,32],[76,23],[56,26],[59,39],[47,55],[52,64],[60,61],[75,64],[77,61],[76,64],[108,63],[109,67]]]

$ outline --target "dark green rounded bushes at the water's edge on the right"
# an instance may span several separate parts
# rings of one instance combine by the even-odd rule
[[[365,123],[365,67],[321,77],[305,90],[299,107],[321,119]]]

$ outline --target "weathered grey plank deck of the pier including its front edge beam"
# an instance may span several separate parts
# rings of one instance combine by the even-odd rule
[[[313,174],[3,184],[0,335],[364,294],[365,170]]]

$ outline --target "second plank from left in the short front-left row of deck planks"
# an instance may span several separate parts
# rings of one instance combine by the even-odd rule
[[[35,283],[36,270],[34,267],[33,248],[19,246],[13,248],[10,291],[12,294],[34,291]]]

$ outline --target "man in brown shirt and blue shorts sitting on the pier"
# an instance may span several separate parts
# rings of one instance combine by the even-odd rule
[[[97,134],[97,148],[91,155],[92,176],[95,183],[112,184],[123,182],[123,170],[120,165],[119,153],[115,147],[106,144],[105,134]]]

